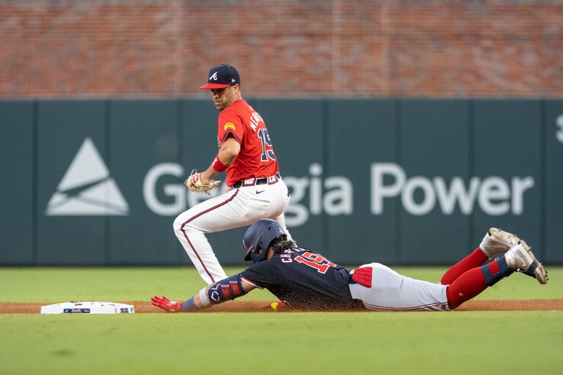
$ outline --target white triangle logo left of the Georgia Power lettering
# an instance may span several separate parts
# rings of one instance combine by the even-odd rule
[[[47,216],[128,215],[129,205],[88,137],[46,208]]]

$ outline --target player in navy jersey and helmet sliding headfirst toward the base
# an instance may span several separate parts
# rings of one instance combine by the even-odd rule
[[[450,267],[439,284],[405,277],[379,263],[349,271],[296,247],[273,220],[252,224],[243,243],[244,259],[254,262],[251,267],[183,303],[155,296],[153,305],[167,312],[189,312],[267,288],[299,310],[453,310],[514,272],[535,277],[540,284],[548,282],[548,273],[526,242],[496,228],[489,229],[479,248]],[[486,263],[489,258],[496,259]]]

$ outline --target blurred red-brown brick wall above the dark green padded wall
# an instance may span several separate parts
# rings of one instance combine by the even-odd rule
[[[0,98],[563,96],[563,0],[0,1]]]

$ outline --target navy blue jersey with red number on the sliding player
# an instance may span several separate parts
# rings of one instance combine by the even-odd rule
[[[291,248],[256,262],[241,277],[299,310],[361,307],[350,295],[350,272],[306,248]]]

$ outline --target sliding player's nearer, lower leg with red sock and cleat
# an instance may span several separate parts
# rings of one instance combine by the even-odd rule
[[[548,282],[548,272],[538,262],[526,242],[519,241],[497,260],[469,269],[457,277],[446,291],[450,309],[455,309],[514,272],[523,272],[535,277],[540,284]]]

